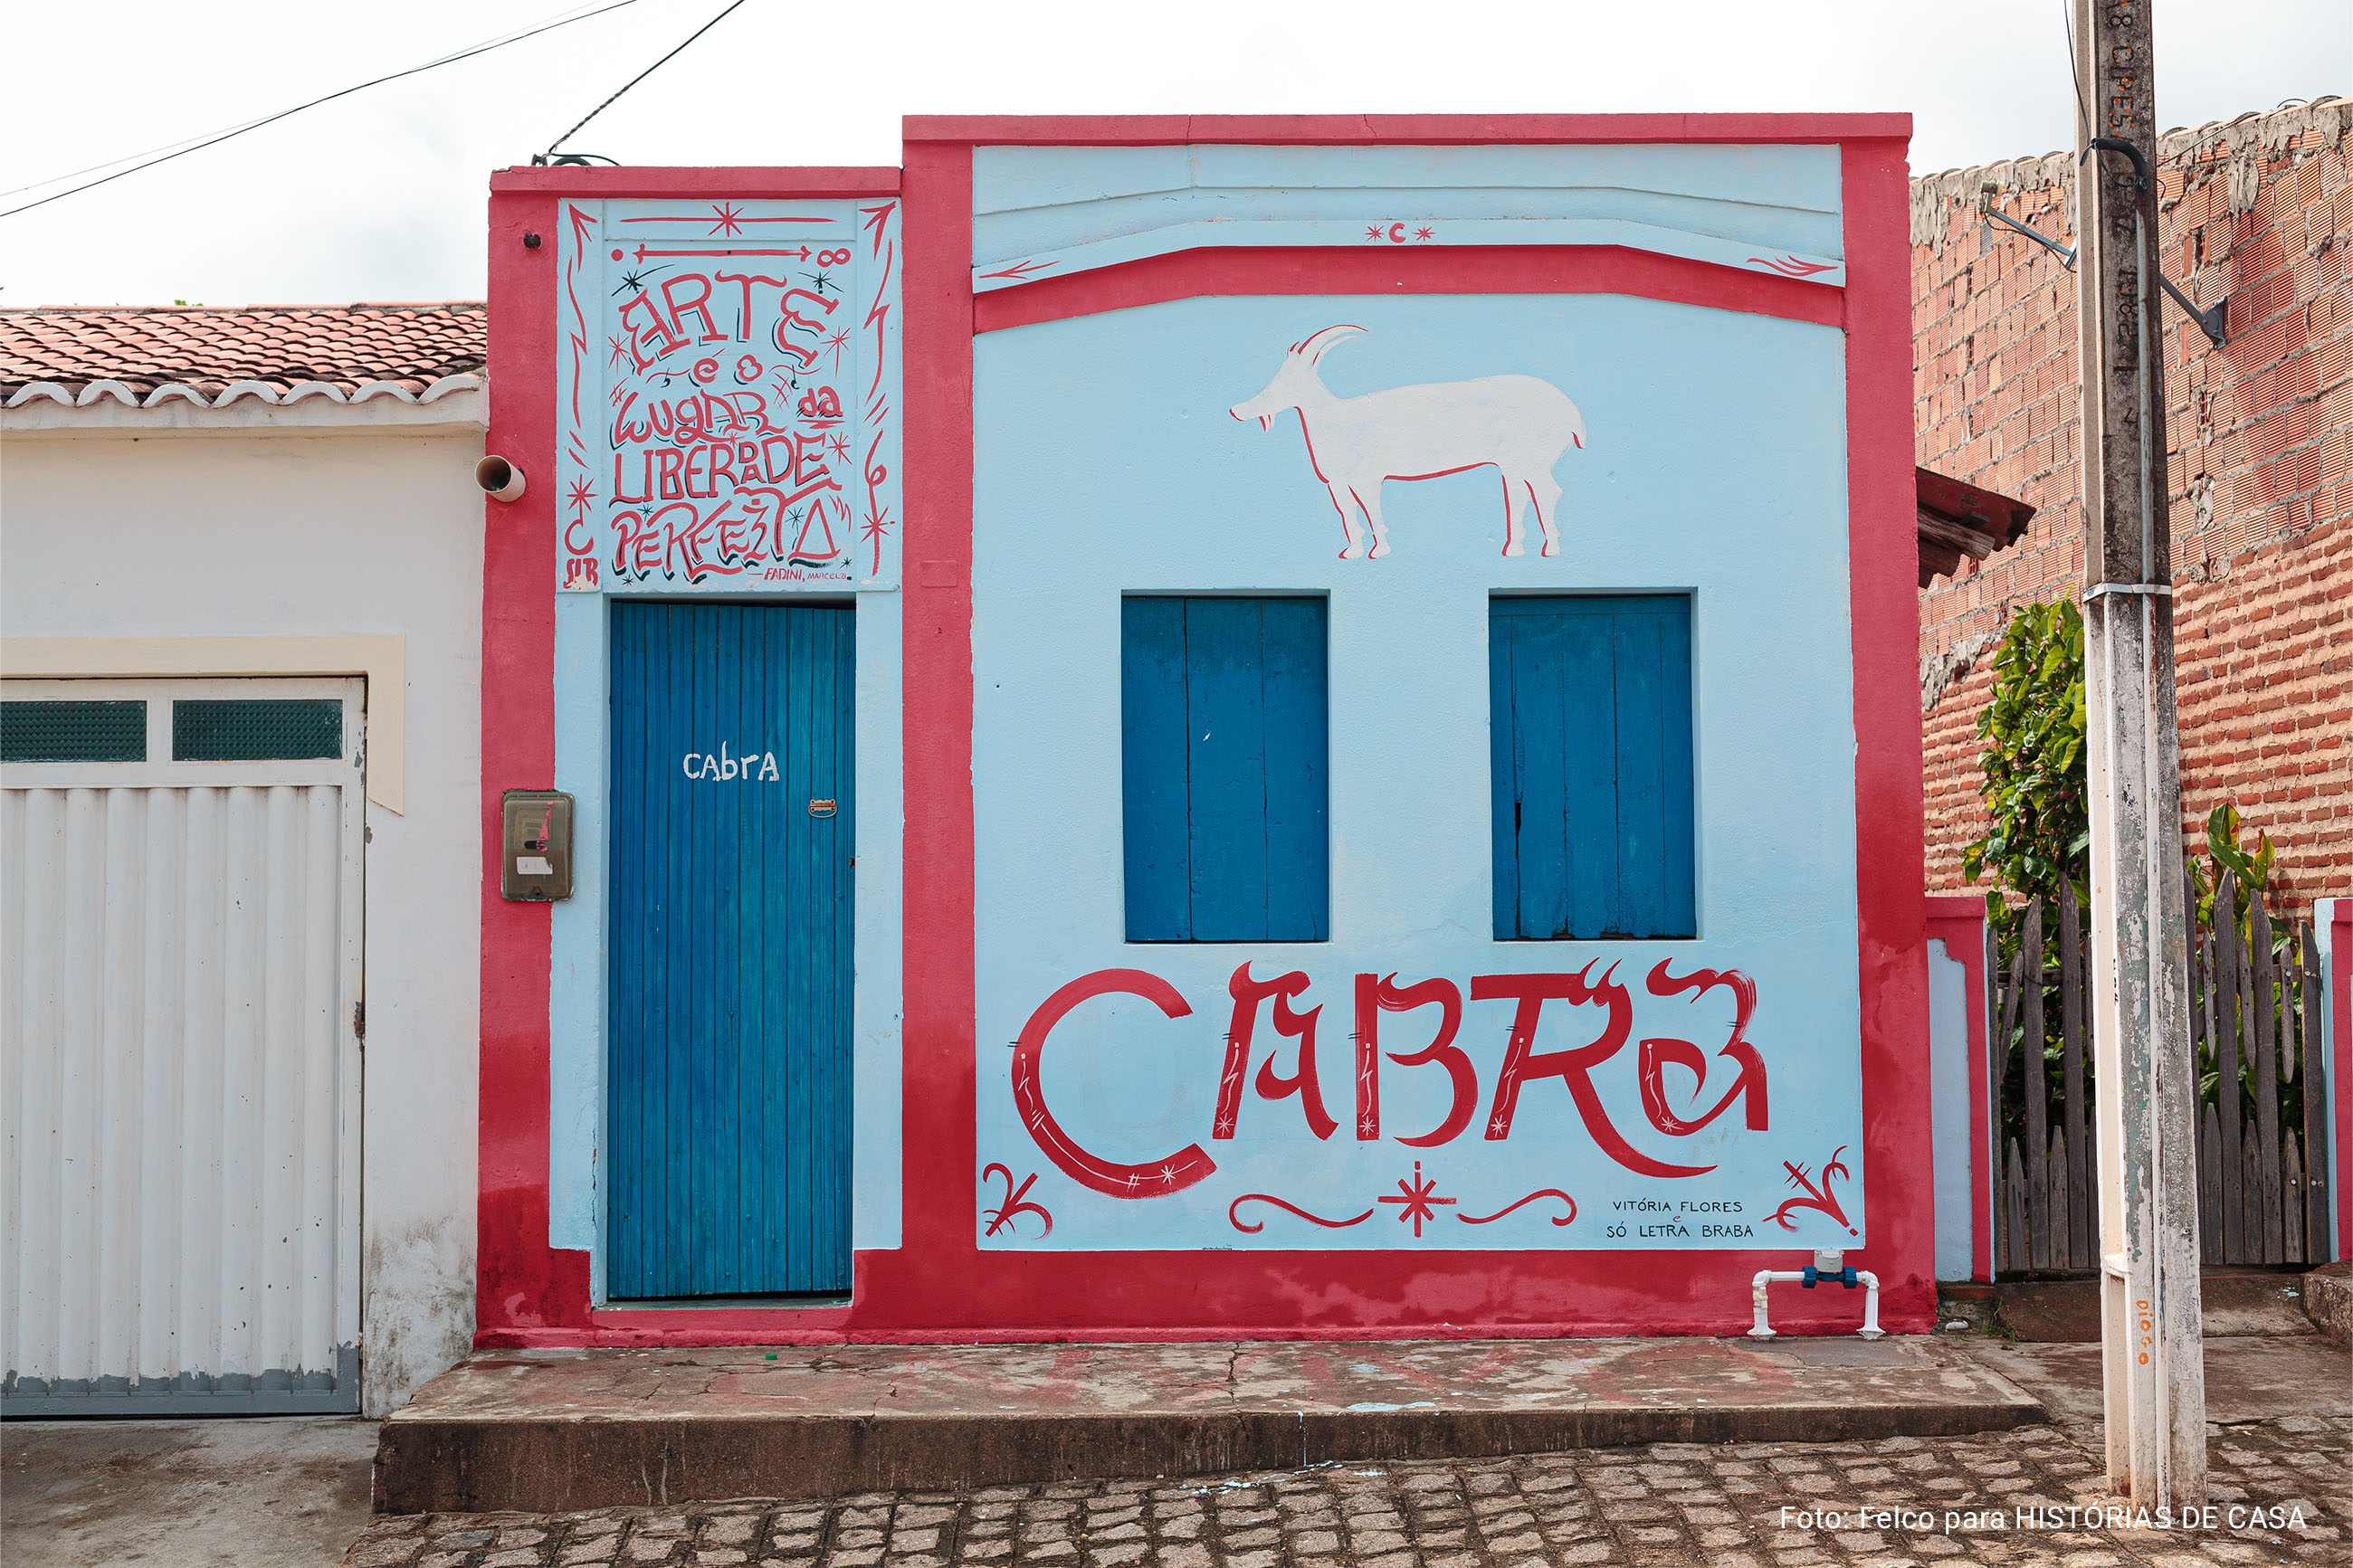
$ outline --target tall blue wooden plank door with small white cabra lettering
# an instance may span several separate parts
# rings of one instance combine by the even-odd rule
[[[852,609],[612,623],[612,1298],[849,1291]]]

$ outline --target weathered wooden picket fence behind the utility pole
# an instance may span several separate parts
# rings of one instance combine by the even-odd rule
[[[2320,950],[2311,924],[2297,922],[2285,950],[2273,952],[2261,900],[2247,912],[2252,931],[2242,933],[2228,917],[2235,898],[2226,877],[2214,898],[2219,919],[2193,919],[2191,931],[2200,1248],[2205,1262],[2322,1260],[2329,1145]],[[2195,889],[2188,910],[2195,917]],[[1993,1126],[2005,1150],[1993,1206],[1995,1272],[2097,1269],[2092,952],[2073,891],[2054,907],[2033,900],[2021,919],[2007,973],[1995,933],[1986,931]],[[2049,1027],[2054,992],[2057,1030]],[[2040,1048],[2026,1048],[2028,1041]]]

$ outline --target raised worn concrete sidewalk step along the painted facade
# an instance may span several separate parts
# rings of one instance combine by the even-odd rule
[[[1934,1338],[485,1352],[384,1422],[381,1514],[2005,1432]]]

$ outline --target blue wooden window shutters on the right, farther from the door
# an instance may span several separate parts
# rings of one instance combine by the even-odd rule
[[[1694,936],[1689,599],[1492,599],[1487,663],[1497,936]]]

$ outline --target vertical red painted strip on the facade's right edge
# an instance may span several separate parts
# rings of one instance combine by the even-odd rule
[[[1911,188],[1901,141],[1840,148],[1847,254],[1847,571],[1854,623],[1854,853],[1864,1161],[1880,1312],[1937,1309],[1929,1147],[1920,607],[1911,404]]]

